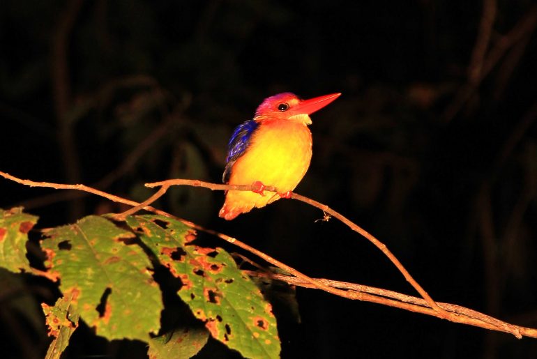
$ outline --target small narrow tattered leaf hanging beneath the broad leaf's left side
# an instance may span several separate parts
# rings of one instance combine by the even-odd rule
[[[69,338],[78,328],[79,313],[75,310],[75,300],[77,293],[71,292],[56,300],[54,307],[43,303],[43,312],[45,313],[49,336],[54,337],[50,343],[45,359],[60,358],[61,353],[69,345]]]

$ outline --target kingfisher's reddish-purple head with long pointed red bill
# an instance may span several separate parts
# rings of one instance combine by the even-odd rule
[[[309,115],[318,109],[322,109],[340,95],[341,93],[332,93],[311,98],[310,100],[302,100],[294,93],[278,93],[278,95],[266,98],[257,107],[254,119],[259,122],[288,120],[310,125],[311,119]]]

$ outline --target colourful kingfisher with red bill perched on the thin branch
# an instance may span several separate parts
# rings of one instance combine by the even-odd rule
[[[222,181],[252,185],[252,191],[227,190],[219,216],[233,220],[252,208],[289,198],[310,167],[312,135],[310,114],[322,109],[341,93],[301,100],[285,92],[266,98],[252,120],[235,128],[229,139]],[[266,185],[278,192],[264,193]]]

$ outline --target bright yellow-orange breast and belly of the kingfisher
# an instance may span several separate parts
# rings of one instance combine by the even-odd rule
[[[308,170],[311,156],[311,132],[303,123],[278,120],[260,125],[244,155],[234,163],[229,184],[251,185],[261,181],[264,185],[275,186],[280,193],[292,191]],[[273,192],[262,196],[250,191],[229,190],[220,217],[232,220],[277,199],[280,196]]]

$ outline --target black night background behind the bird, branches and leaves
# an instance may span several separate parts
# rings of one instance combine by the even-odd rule
[[[296,192],[377,236],[435,300],[535,328],[536,24],[524,0],[4,0],[0,170],[137,200],[165,178],[218,183],[227,139],[264,98],[341,92],[312,116]],[[174,188],[156,206],[312,277],[414,295],[377,248],[316,221],[315,208],[281,200],[225,222],[222,201]],[[122,209],[1,181],[0,206],[15,204],[40,228]],[[26,280],[33,305],[54,303],[54,286]],[[312,289],[297,297],[301,323],[279,319],[283,358],[537,357],[536,339]],[[43,356],[44,326],[2,302],[2,352]],[[135,353],[144,347],[81,328],[65,357]],[[225,351],[212,342],[200,356]]]

